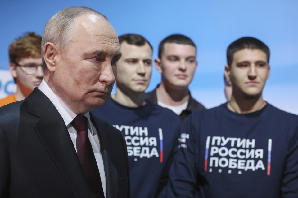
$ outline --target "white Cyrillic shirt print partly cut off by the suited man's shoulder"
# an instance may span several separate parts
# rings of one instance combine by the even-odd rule
[[[157,138],[148,136],[147,127],[134,127],[127,125],[113,125],[115,128],[124,132],[124,139],[127,145],[128,156],[134,156],[134,161],[138,158],[159,157],[160,163],[163,162],[163,134],[162,129],[158,129],[160,148],[157,148]],[[158,152],[159,150],[159,152]]]

